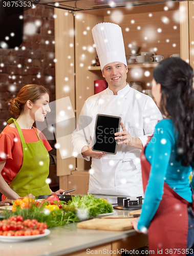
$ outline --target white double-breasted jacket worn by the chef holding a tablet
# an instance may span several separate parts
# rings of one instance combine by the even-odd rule
[[[90,125],[84,131],[78,129],[72,134],[74,155],[82,156],[81,149],[89,145],[94,137],[97,114],[120,116],[126,130],[132,137],[139,137],[143,146],[147,136],[154,133],[155,125],[162,115],[157,105],[149,96],[136,91],[127,84],[114,95],[109,88],[89,97],[82,108],[80,116],[92,117]],[[87,138],[85,138],[85,136]],[[106,154],[100,159],[92,158],[90,170],[89,193],[113,196],[143,196],[140,153],[132,146],[118,145],[117,154]]]

